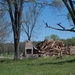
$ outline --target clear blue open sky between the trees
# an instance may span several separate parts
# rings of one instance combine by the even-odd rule
[[[40,13],[39,20],[37,22],[37,29],[35,35],[32,37],[31,41],[43,41],[46,36],[50,36],[52,34],[58,35],[61,39],[67,39],[75,36],[74,32],[65,32],[65,31],[57,31],[50,28],[46,28],[44,22],[47,22],[48,25],[57,27],[57,23],[60,23],[64,26],[69,28],[69,22],[66,18],[66,16],[58,16],[62,14],[66,14],[68,11],[64,7],[62,10],[55,9],[55,8],[49,8],[45,7],[42,12]],[[9,17],[8,17],[9,19]],[[11,34],[11,38],[8,39],[8,41],[13,41],[13,34]],[[25,33],[21,32],[20,41],[24,42],[27,40],[27,36]]]

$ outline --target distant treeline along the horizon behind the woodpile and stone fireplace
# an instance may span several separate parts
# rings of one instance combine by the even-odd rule
[[[54,35],[51,35],[51,37],[52,36],[54,36]],[[56,38],[52,37],[52,38],[54,38],[53,40],[61,40],[61,41],[63,41],[65,46],[75,46],[75,37],[68,38],[68,39],[60,39],[60,38],[57,39],[57,37]],[[49,37],[48,37],[48,40],[51,40],[51,39],[49,39]],[[33,41],[32,43],[35,46],[38,42]],[[25,42],[20,42],[19,49],[20,49],[20,52],[24,52],[24,50],[25,50]],[[0,44],[0,54],[4,55],[5,53],[7,53],[7,54],[14,53],[14,43]]]

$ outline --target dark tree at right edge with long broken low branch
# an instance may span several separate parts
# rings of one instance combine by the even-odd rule
[[[64,5],[66,6],[66,8],[69,12],[69,16],[73,22],[73,25],[70,26],[69,29],[67,29],[62,25],[61,22],[57,24],[60,28],[49,26],[47,22],[46,23],[44,22],[44,23],[47,28],[52,28],[52,29],[60,30],[60,31],[75,32],[75,1],[74,0],[62,0],[62,2],[64,3]]]

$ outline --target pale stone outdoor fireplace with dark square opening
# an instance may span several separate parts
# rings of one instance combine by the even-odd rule
[[[25,57],[29,58],[33,55],[33,44],[27,40],[25,42]]]

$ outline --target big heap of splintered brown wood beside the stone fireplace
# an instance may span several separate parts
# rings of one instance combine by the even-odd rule
[[[58,55],[58,57],[62,56],[62,52],[64,51],[64,43],[62,41],[54,41],[54,40],[44,40],[36,45],[36,48],[39,50],[40,54],[46,55]]]

